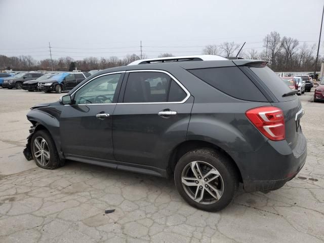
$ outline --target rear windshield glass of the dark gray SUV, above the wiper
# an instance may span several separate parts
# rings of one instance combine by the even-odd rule
[[[283,94],[292,90],[269,67],[253,66],[250,69],[262,80],[278,101],[288,101],[296,98],[294,95],[282,97]]]

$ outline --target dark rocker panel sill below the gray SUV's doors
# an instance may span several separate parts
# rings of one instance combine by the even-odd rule
[[[82,155],[74,155],[74,154],[65,154],[66,159],[75,160],[78,162],[103,166],[112,169],[118,169],[123,171],[130,171],[135,173],[141,173],[146,175],[158,176],[158,177],[166,177],[167,171],[159,168],[151,167],[151,166],[142,166],[138,164],[131,164],[123,161],[116,160],[108,160],[108,159],[99,159],[93,157],[87,157]]]

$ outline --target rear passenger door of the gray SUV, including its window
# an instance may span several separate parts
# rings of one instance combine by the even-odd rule
[[[114,156],[165,170],[171,149],[186,140],[193,97],[165,71],[127,71],[126,78],[113,113]]]

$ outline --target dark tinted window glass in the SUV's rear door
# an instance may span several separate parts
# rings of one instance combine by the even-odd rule
[[[186,93],[163,72],[130,72],[125,89],[125,103],[180,102]]]

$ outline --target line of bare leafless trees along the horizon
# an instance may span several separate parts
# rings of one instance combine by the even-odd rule
[[[222,44],[207,45],[202,54],[220,55],[224,57],[236,56],[241,45],[235,42],[224,42]],[[238,57],[245,59],[260,59],[268,61],[268,65],[274,71],[313,71],[315,66],[316,45],[301,44],[298,39],[280,36],[276,31],[272,31],[263,38],[263,48],[261,51],[255,49],[245,50],[239,53]],[[172,53],[163,53],[158,57],[173,56]],[[147,58],[142,55],[142,59]],[[71,71],[74,67],[82,71],[93,69],[105,69],[116,66],[127,65],[139,60],[136,54],[129,54],[125,58],[115,56],[109,58],[87,57],[83,60],[73,60],[71,57],[61,57],[53,59],[35,60],[32,56],[21,55],[17,57],[7,57],[0,55],[0,69],[13,70],[57,70]],[[316,70],[320,69],[321,58],[318,59]]]

